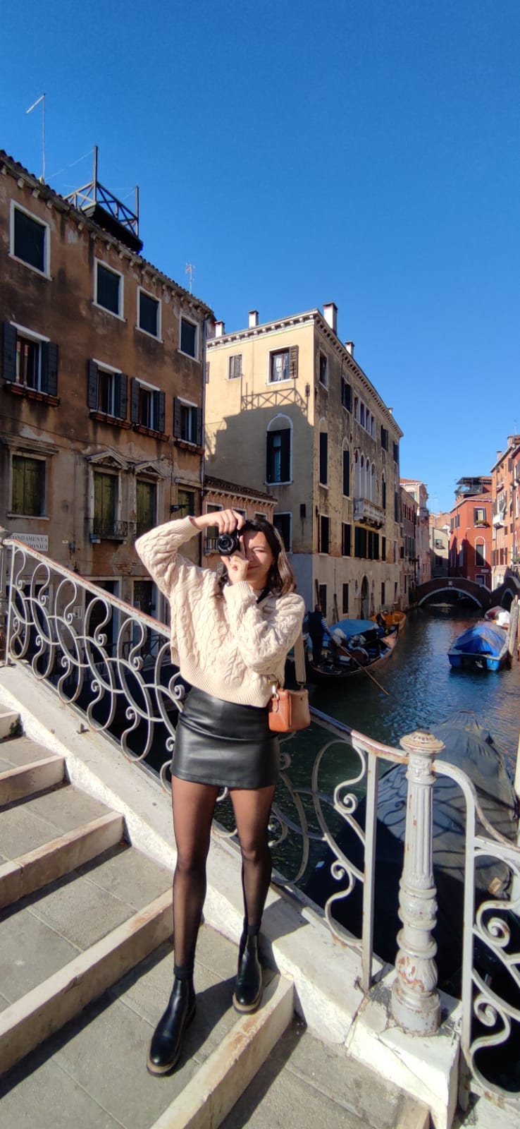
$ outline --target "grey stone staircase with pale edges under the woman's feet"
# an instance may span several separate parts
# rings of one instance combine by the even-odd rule
[[[421,1103],[306,1032],[288,980],[267,972],[262,1008],[237,1018],[237,949],[208,926],[179,1066],[149,1076],[171,982],[170,870],[17,724],[0,715],[2,1129],[428,1126]]]

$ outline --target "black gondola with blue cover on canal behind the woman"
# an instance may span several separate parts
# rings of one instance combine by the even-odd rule
[[[386,662],[397,642],[397,628],[385,629],[372,620],[338,620],[324,637],[321,660],[307,655],[307,676],[318,685],[335,685],[362,677],[362,672]]]

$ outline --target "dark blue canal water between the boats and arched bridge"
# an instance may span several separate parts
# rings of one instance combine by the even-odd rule
[[[372,672],[388,697],[360,671],[338,686],[317,686],[311,703],[387,745],[406,733],[444,721],[455,710],[473,710],[514,769],[520,730],[520,663],[495,673],[452,671],[452,641],[478,619],[464,612],[409,612],[397,647]]]

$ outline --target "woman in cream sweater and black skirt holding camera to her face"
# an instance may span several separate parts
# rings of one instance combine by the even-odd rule
[[[217,572],[178,550],[209,527],[239,534]],[[240,533],[240,531],[243,531]],[[273,682],[301,631],[303,601],[282,540],[270,522],[245,523],[233,509],[168,522],[135,549],[171,609],[171,657],[191,683],[171,761],[177,846],[174,876],[174,987],[151,1040],[148,1069],[167,1074],[195,1014],[193,968],[205,895],[205,863],[219,791],[229,788],[241,851],[244,929],[233,1005],[262,998],[258,933],[271,881],[267,824],[277,778],[277,738],[268,728]],[[220,574],[220,575],[219,575]]]

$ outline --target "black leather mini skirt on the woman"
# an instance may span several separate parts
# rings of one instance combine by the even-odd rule
[[[190,691],[177,721],[171,776],[221,788],[266,788],[276,784],[279,760],[266,706]]]

